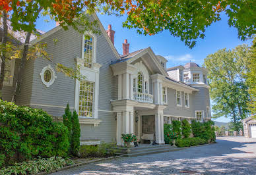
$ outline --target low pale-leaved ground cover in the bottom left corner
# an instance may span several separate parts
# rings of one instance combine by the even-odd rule
[[[71,164],[74,164],[74,162],[61,157],[33,159],[32,161],[15,163],[13,166],[4,167],[0,170],[0,174],[37,174],[50,172]]]

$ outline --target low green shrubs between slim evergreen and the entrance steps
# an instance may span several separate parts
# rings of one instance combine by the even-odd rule
[[[112,157],[115,155],[115,143],[80,146],[80,157]]]

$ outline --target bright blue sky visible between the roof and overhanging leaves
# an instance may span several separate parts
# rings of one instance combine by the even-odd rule
[[[115,30],[115,47],[119,53],[123,53],[122,43],[124,39],[127,39],[128,43],[130,43],[130,52],[151,47],[156,55],[162,55],[168,59],[168,67],[185,64],[189,61],[201,65],[207,55],[215,53],[218,49],[232,49],[243,43],[251,45],[251,40],[241,41],[238,39],[238,31],[236,28],[228,26],[228,17],[225,14],[222,14],[222,20],[215,22],[207,28],[205,38],[198,39],[193,49],[189,49],[183,41],[171,36],[168,31],[161,32],[156,36],[143,36],[138,34],[136,29],[128,30],[123,28],[122,22],[125,21],[125,16],[118,18],[116,16],[99,14],[98,17],[104,28],[107,29],[108,24],[112,24],[112,30]],[[55,22],[44,22],[45,19],[46,17],[39,18],[36,26],[38,29],[47,32],[55,26]],[[228,122],[228,118],[224,117],[216,120]]]

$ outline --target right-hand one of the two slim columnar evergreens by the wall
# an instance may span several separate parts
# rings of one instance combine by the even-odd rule
[[[77,112],[74,111],[72,115],[72,137],[71,137],[71,151],[74,156],[79,155],[80,147],[80,124],[79,116]]]

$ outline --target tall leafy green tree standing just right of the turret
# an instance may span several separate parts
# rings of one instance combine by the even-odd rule
[[[247,117],[248,87],[245,84],[246,61],[251,55],[247,45],[235,49],[220,49],[205,59],[208,68],[210,98],[214,118],[232,118],[232,127],[239,130],[240,120]]]

